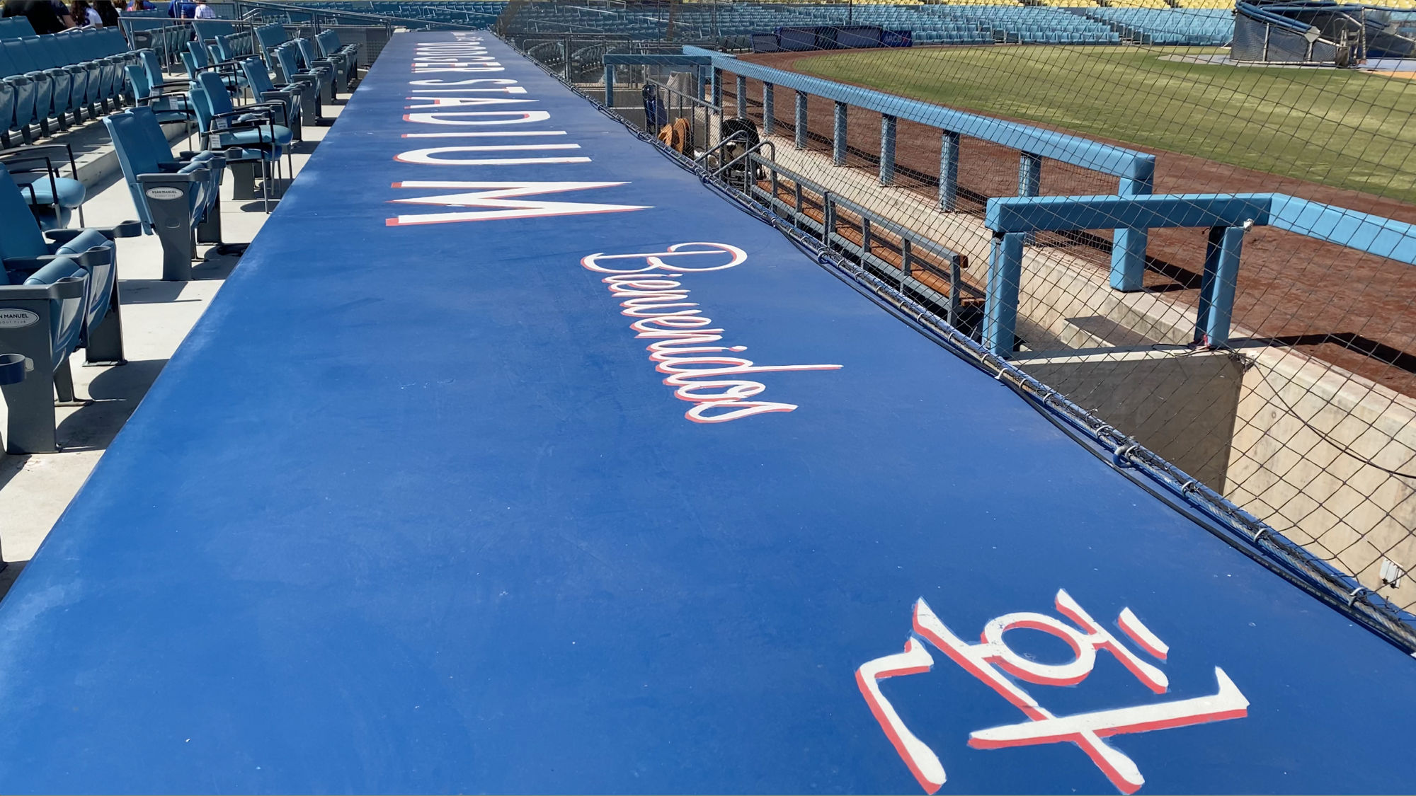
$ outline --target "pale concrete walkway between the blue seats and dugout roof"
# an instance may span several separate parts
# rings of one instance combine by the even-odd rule
[[[324,108],[326,118],[337,118],[347,95],[337,105]],[[99,129],[102,129],[99,126]],[[293,173],[309,161],[329,127],[306,125],[293,154]],[[84,130],[92,135],[92,126]],[[106,137],[105,137],[106,140]],[[112,152],[112,144],[106,144]],[[91,149],[91,147],[85,147]],[[185,149],[181,137],[174,149]],[[85,152],[89,157],[92,153]],[[282,167],[287,164],[282,161]],[[89,227],[106,227],[137,218],[133,198],[122,173],[99,174],[89,186],[84,205]],[[285,174],[285,184],[290,181]],[[222,237],[225,242],[249,242],[268,215],[261,200],[231,198],[229,176],[222,186]],[[273,211],[278,203],[272,201]],[[78,224],[78,218],[74,220]],[[236,256],[218,255],[201,246],[202,259],[194,262],[191,282],[161,280],[161,246],[153,235],[118,241],[119,289],[123,305],[123,344],[127,364],[120,367],[84,367],[84,354],[71,358],[75,406],[58,408],[58,453],[28,456],[0,455],[0,555],[8,565],[0,572],[0,593],[10,588],[24,564],[64,513],[69,500],[88,479],[129,415],[147,394],[153,380],[173,356],[197,319],[221,290]],[[4,429],[0,402],[0,431]],[[173,440],[180,445],[180,440]]]

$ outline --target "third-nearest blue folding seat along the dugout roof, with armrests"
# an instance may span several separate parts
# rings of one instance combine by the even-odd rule
[[[276,125],[285,103],[262,102],[242,108],[231,105],[221,79],[211,74],[197,75],[191,88],[191,103],[197,109],[197,129],[211,149],[222,150],[232,171],[232,197],[256,198],[255,167],[261,166],[261,200],[270,210],[272,166],[279,169],[292,140],[290,127]]]

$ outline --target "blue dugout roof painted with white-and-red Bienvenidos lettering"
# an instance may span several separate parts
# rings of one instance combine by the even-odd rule
[[[1409,790],[1413,666],[501,42],[402,34],[0,605],[0,783]]]

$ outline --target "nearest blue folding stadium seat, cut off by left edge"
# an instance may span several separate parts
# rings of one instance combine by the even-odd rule
[[[21,221],[28,214],[20,187],[0,169],[0,347],[24,354],[35,377],[6,385],[11,453],[55,450],[54,392],[74,399],[69,354],[82,347],[89,363],[123,361],[115,238],[136,235],[136,221],[106,229],[51,229]],[[45,242],[45,237],[54,242]],[[28,322],[28,323],[25,323]],[[52,384],[52,387],[51,387]]]

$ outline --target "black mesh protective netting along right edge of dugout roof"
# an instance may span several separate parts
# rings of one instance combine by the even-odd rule
[[[705,174],[1280,558],[1416,605],[1416,11],[1245,3],[1240,62],[1216,0],[1055,1],[514,1],[498,31],[683,120]]]

